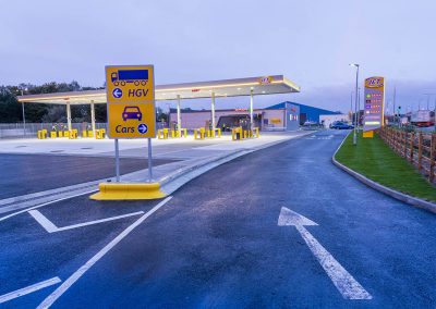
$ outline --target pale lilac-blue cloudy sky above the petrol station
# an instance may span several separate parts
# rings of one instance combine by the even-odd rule
[[[436,1],[0,0],[0,85],[77,81],[101,86],[105,65],[154,64],[158,85],[283,74],[300,94],[259,96],[350,110],[385,76],[386,101],[426,107],[436,94]],[[245,108],[245,97],[217,108]],[[436,95],[429,96],[429,106]],[[208,108],[207,100],[184,106]]]

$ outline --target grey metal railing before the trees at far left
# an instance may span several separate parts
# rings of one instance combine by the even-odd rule
[[[57,129],[66,131],[66,123],[26,123],[26,129],[24,133],[23,123],[0,123],[0,138],[36,138],[37,132],[40,129],[47,129],[47,132],[53,131],[53,125]],[[84,129],[92,129],[90,123],[72,123],[72,129],[82,132]],[[107,129],[106,123],[96,123],[96,129]]]

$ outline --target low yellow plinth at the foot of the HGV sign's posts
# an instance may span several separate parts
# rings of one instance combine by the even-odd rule
[[[126,184],[126,183],[101,183],[99,191],[89,196],[94,200],[141,200],[158,199],[167,195],[160,190],[159,183]]]

